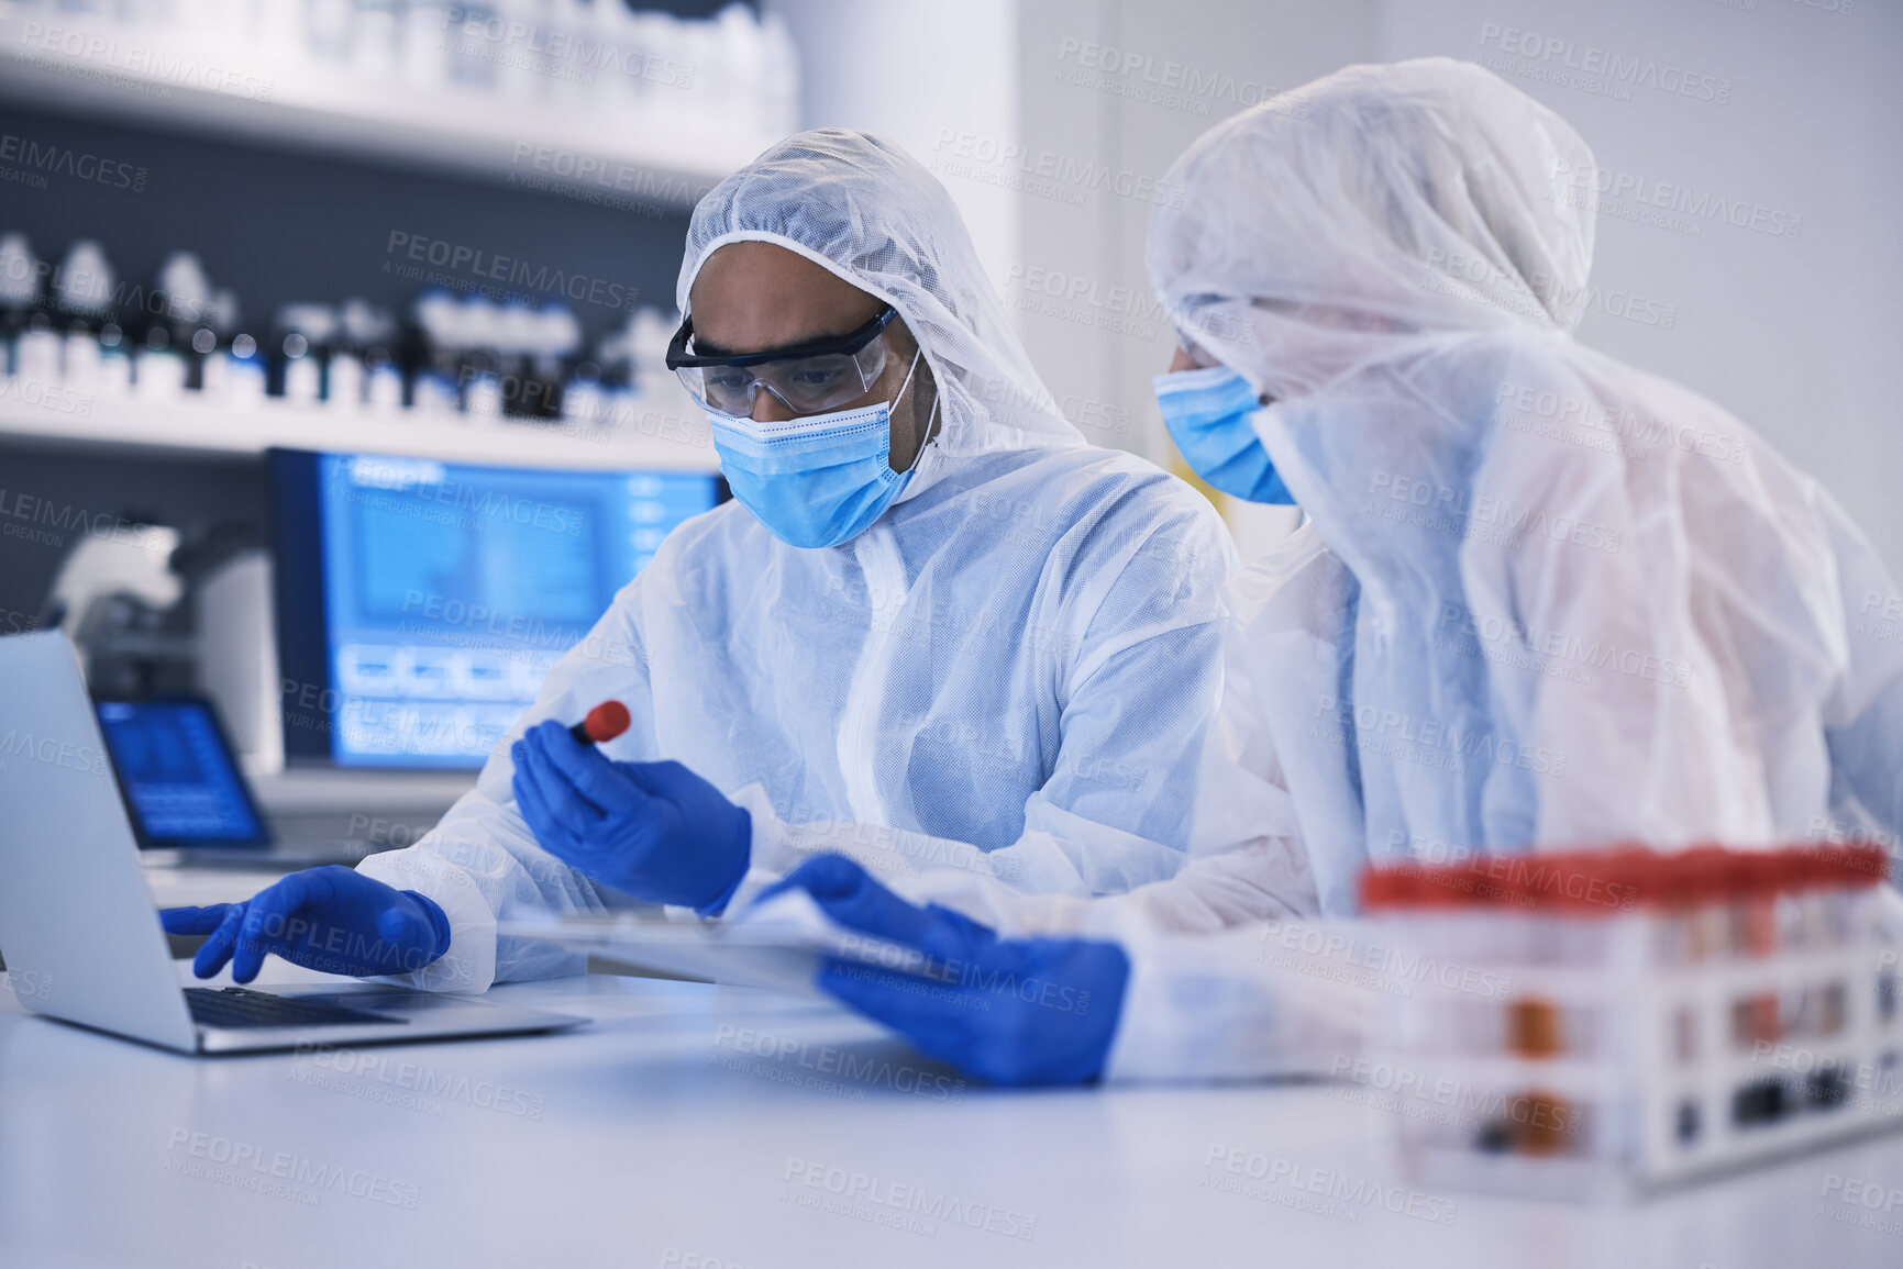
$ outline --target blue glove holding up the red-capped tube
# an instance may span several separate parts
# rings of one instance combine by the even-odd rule
[[[679,763],[617,763],[561,723],[510,748],[516,807],[542,849],[653,904],[719,913],[754,856],[754,818]]]

